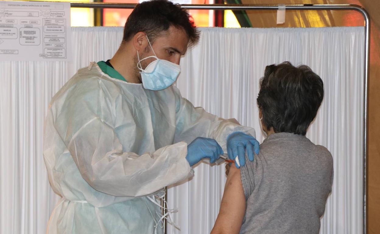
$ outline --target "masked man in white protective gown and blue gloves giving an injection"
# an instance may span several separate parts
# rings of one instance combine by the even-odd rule
[[[198,38],[179,5],[138,4],[114,57],[79,69],[55,94],[43,153],[62,199],[48,234],[162,233],[167,215],[157,198],[165,186],[223,152],[240,164],[245,152],[253,160],[252,128],[194,108],[172,86],[180,57]]]

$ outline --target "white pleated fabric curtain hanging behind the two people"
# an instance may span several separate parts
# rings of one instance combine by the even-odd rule
[[[89,61],[111,58],[122,28],[72,28],[72,62],[0,62],[0,233],[46,231],[59,196],[42,156],[48,103]],[[307,64],[321,76],[325,99],[307,137],[334,157],[334,184],[321,233],[362,233],[364,28],[202,28],[181,60],[177,86],[195,106],[256,129],[256,96],[266,65]],[[225,183],[224,166],[200,163],[195,176],[168,191],[181,231],[209,233]],[[172,234],[169,225],[168,233]]]

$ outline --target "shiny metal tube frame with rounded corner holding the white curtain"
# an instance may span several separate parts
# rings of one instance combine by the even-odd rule
[[[135,8],[133,3],[98,3],[98,2],[71,2],[71,7],[78,8]],[[277,10],[278,5],[234,5],[234,4],[210,4],[210,5],[181,5],[184,9],[199,10]],[[367,234],[368,212],[367,212],[367,155],[368,155],[368,84],[369,84],[369,39],[370,39],[370,18],[367,11],[354,4],[293,4],[285,5],[288,10],[354,10],[363,14],[365,25],[365,42],[364,42],[364,120],[363,120],[363,233]],[[166,196],[165,196],[166,198]],[[166,225],[165,225],[166,233]]]

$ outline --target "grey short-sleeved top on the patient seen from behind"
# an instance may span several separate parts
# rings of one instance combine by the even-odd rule
[[[247,200],[240,233],[318,233],[331,192],[330,152],[302,135],[274,133],[241,167]]]

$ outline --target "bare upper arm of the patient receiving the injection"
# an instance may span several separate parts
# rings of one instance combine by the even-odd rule
[[[239,233],[245,214],[245,206],[240,170],[233,163],[227,177],[219,214],[211,234]]]

